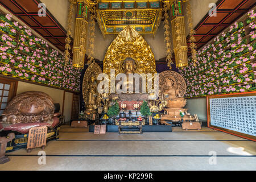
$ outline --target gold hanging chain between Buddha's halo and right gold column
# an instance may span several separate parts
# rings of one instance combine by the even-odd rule
[[[171,50],[171,32],[170,32],[170,23],[169,23],[169,15],[168,15],[168,8],[170,7],[170,3],[164,3],[164,42],[166,42],[166,60],[167,66],[172,69],[171,64],[172,62],[172,50]]]

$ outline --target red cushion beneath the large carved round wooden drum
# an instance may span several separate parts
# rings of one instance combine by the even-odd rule
[[[59,118],[54,117],[53,122],[51,123],[16,123],[14,125],[11,124],[4,124],[3,130],[5,131],[17,131],[22,134],[28,134],[32,127],[39,127],[39,126],[48,126],[51,129],[57,126],[60,123]],[[0,123],[0,131],[1,131],[1,123]]]

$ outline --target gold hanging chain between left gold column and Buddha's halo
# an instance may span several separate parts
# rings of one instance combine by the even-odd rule
[[[94,60],[95,24],[96,24],[95,19],[96,19],[96,7],[93,6],[92,12],[90,14],[90,20],[89,20],[90,38],[89,38],[87,65],[92,64],[92,62]]]

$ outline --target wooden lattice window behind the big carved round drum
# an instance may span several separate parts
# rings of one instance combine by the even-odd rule
[[[18,82],[0,77],[0,119],[7,104],[16,96]]]

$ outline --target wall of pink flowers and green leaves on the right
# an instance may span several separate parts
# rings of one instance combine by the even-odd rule
[[[232,24],[214,43],[197,51],[196,64],[190,59],[189,66],[179,70],[187,82],[186,97],[256,90],[255,16],[249,11],[245,24]]]

